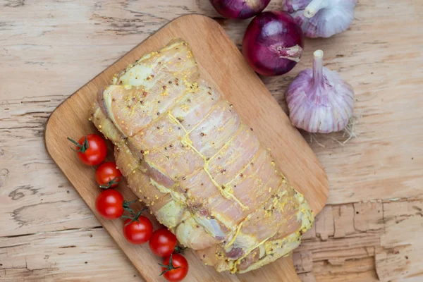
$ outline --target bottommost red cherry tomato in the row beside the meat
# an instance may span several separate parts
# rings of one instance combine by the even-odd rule
[[[182,255],[172,254],[166,257],[161,267],[161,274],[167,281],[181,281],[188,274],[188,262]]]

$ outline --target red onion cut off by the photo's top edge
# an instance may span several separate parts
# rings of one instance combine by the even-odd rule
[[[216,11],[226,18],[251,18],[264,10],[270,0],[210,0]]]

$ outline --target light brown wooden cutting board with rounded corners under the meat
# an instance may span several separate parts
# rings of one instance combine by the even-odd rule
[[[66,137],[78,139],[87,133],[97,133],[88,121],[88,111],[99,88],[109,85],[114,73],[123,70],[129,63],[143,54],[164,47],[177,37],[190,44],[202,77],[221,90],[245,123],[253,128],[262,144],[271,149],[271,154],[288,181],[304,193],[315,214],[321,211],[328,197],[328,180],[317,157],[298,130],[291,125],[288,116],[262,80],[247,65],[223,28],[205,16],[176,18],[66,99],[51,114],[45,133],[45,142],[51,157],[147,281],[164,281],[164,278],[158,276],[160,269],[157,263],[161,259],[152,255],[147,244],[134,246],[126,243],[122,235],[121,220],[107,221],[95,212],[94,202],[100,192],[94,180],[95,168],[80,163],[69,148]],[[87,67],[90,66],[81,66]],[[109,144],[109,159],[112,159],[111,149]],[[136,198],[124,181],[118,189],[126,200]],[[154,218],[152,221],[155,227],[159,226]],[[212,267],[204,266],[191,250],[185,256],[190,263],[185,281],[299,281],[291,257],[278,259],[247,274],[231,275],[219,274]]]

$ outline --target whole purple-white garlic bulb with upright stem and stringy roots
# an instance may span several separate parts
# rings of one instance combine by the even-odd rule
[[[310,133],[343,130],[353,116],[353,87],[323,66],[323,51],[313,55],[313,68],[301,71],[286,92],[290,120]]]

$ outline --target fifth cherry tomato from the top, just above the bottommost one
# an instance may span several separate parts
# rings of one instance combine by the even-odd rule
[[[167,228],[161,228],[154,231],[149,240],[149,246],[154,255],[159,257],[168,257],[173,252],[177,243],[176,236],[168,231]]]

